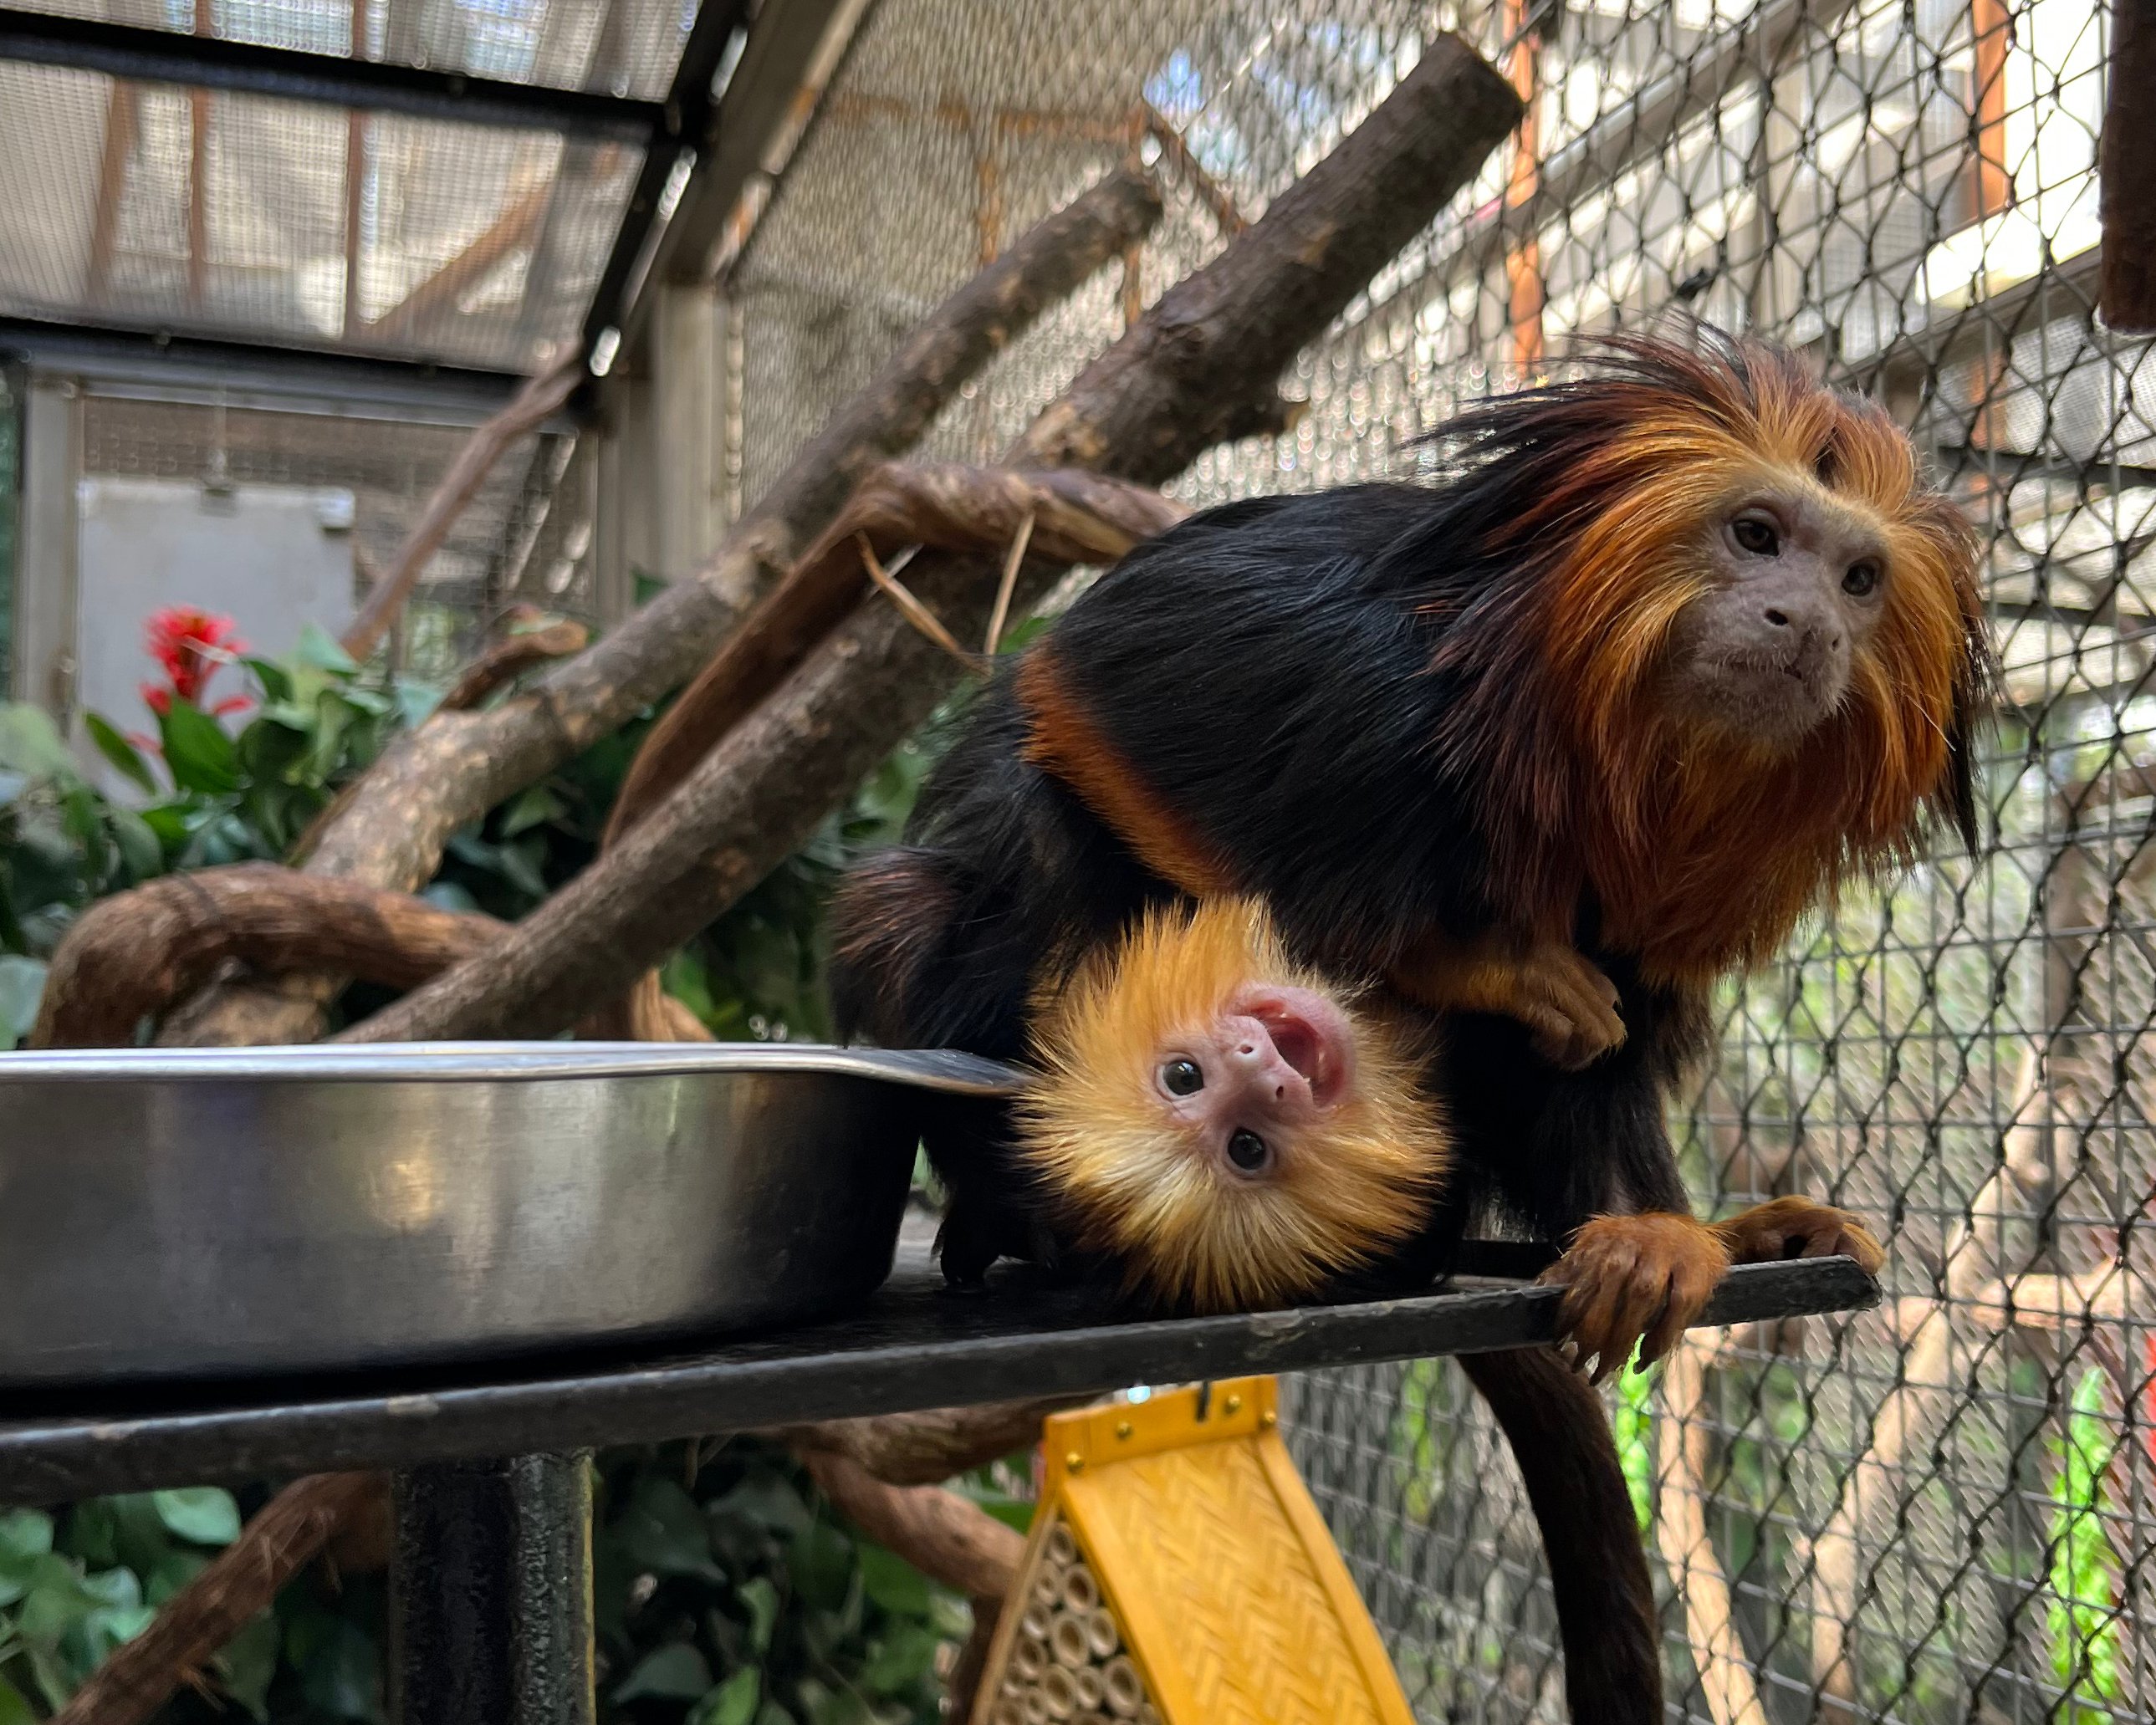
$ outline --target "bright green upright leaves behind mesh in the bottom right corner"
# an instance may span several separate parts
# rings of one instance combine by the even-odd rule
[[[2111,1427],[2104,1419],[2109,1378],[2089,1367],[2074,1384],[2065,1432],[2046,1440],[2050,1481],[2050,1602],[2044,1628],[2050,1669],[2065,1690],[2059,1719],[2091,1725],[2109,1719],[2124,1697],[2119,1684],[2119,1552],[2104,1531],[2104,1475],[2111,1471]]]

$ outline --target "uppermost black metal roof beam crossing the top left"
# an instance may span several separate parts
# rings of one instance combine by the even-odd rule
[[[720,6],[724,11],[724,4]],[[306,54],[222,37],[147,30],[93,17],[0,6],[0,60],[101,71],[144,84],[317,101],[453,125],[558,132],[651,147],[677,132],[666,104],[461,71]],[[709,78],[709,69],[705,69]]]

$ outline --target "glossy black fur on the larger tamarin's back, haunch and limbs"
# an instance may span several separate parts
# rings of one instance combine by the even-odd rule
[[[1494,921],[1477,787],[1434,746],[1447,707],[1470,694],[1466,673],[1432,671],[1485,571],[1445,567],[1455,533],[1438,500],[1369,485],[1194,515],[1028,649],[1052,653],[1115,753],[1246,867],[1296,955],[1339,977],[1380,972],[1416,929],[1470,936]],[[921,891],[936,882],[944,908],[903,962],[834,964],[847,1035],[1015,1059],[1041,966],[1175,895],[1022,757],[1024,737],[1005,666],[925,785],[908,850],[871,862],[914,873]],[[1662,1098],[1701,1048],[1703,1013],[1600,951],[1593,906],[1576,934],[1623,996],[1623,1048],[1557,1072],[1511,1020],[1449,1024],[1440,1091],[1468,1179],[1399,1281],[1442,1270],[1479,1199],[1550,1242],[1600,1212],[1684,1208]],[[931,1145],[953,1199],[946,1272],[964,1281],[1003,1255],[1052,1255],[1015,1169],[992,1141],[966,1138]]]

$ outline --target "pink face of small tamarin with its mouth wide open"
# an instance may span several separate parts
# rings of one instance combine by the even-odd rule
[[[1354,1031],[1324,994],[1253,983],[1171,1037],[1153,1093],[1179,1141],[1214,1169],[1263,1179],[1354,1087]]]

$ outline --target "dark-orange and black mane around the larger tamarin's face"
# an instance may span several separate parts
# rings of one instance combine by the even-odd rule
[[[1807,908],[1906,858],[1927,809],[1973,826],[1968,727],[1986,645],[1975,535],[1874,403],[1781,351],[1613,343],[1576,386],[1462,420],[1531,483],[1488,552],[1529,565],[1505,606],[1509,675],[1483,677],[1453,748],[1507,759],[1483,811],[1511,910],[1557,938],[1589,891],[1602,942],[1647,981],[1703,983],[1774,953]],[[1466,485],[1473,487],[1473,479]],[[1712,582],[1710,524],[1759,485],[1830,496],[1887,546],[1878,632],[1841,709],[1794,753],[1705,735],[1658,701],[1680,610]],[[1440,662],[1488,647],[1447,636]],[[1526,662],[1531,660],[1531,662]]]

